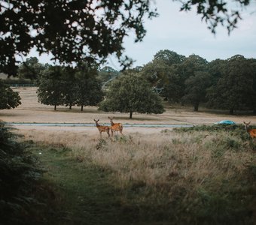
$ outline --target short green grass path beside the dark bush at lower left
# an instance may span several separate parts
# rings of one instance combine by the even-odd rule
[[[56,189],[57,206],[48,224],[131,224],[118,202],[108,172],[70,160],[69,149],[34,147],[40,156],[44,179]]]

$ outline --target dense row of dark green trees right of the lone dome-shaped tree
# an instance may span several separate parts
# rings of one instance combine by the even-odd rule
[[[160,50],[154,59],[135,69],[160,95],[172,103],[200,104],[219,110],[256,113],[256,59],[234,55],[207,62],[199,55]]]

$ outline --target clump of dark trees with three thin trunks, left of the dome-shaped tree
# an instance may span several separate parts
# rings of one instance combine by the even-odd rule
[[[95,106],[103,98],[101,83],[97,79],[96,64],[79,65],[78,68],[48,66],[37,79],[38,101],[54,106]]]

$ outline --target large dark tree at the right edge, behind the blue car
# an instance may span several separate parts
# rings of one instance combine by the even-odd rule
[[[215,109],[248,110],[254,106],[254,71],[251,62],[234,55],[225,62],[223,77],[208,90],[208,106]]]

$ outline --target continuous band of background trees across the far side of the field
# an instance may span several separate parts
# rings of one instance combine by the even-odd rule
[[[142,98],[133,98],[134,93],[142,96],[143,89],[139,91],[139,87],[147,83],[169,104],[191,105],[194,111],[203,105],[229,110],[230,114],[236,110],[256,113],[256,59],[242,55],[207,62],[199,55],[185,57],[165,49],[157,52],[148,64],[122,72],[111,67],[99,68],[96,63],[88,62],[77,68],[43,65],[38,58],[32,57],[20,65],[18,77],[20,80],[33,80],[38,86],[38,101],[54,106],[55,110],[59,105],[70,109],[77,105],[83,110],[85,106],[102,102],[99,104],[101,110],[126,112],[130,113],[130,117],[133,112],[154,113],[157,112],[152,110],[155,106],[151,106],[151,110],[142,110],[138,107],[139,103],[145,105],[141,102]],[[120,86],[123,81],[116,77],[126,77],[126,85]],[[132,80],[136,77],[140,81],[135,83]],[[127,91],[130,83],[134,87],[130,89],[133,97]],[[148,88],[144,90],[148,93]],[[104,95],[105,100],[102,101]],[[119,98],[123,98],[123,101]],[[136,102],[137,107],[133,104],[129,108],[129,101],[124,101],[127,98],[133,99],[130,103]],[[117,104],[118,101],[123,104]],[[158,110],[158,113],[162,111]]]

